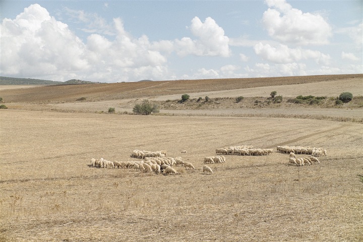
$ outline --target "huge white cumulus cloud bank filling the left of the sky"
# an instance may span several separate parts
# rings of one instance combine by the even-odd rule
[[[0,64],[2,75],[108,82],[170,75],[167,59],[158,51],[160,44],[150,43],[145,35],[132,37],[119,18],[112,28],[113,40],[93,33],[84,43],[67,24],[56,21],[40,5],[31,5],[16,19],[3,20],[1,56],[7,61]]]

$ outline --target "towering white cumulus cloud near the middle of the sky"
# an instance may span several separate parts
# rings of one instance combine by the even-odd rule
[[[224,30],[211,17],[206,18],[204,23],[198,17],[193,18],[189,29],[197,38],[184,37],[180,40],[175,40],[177,54],[181,56],[187,54],[197,56],[230,56],[229,38],[224,35]]]

